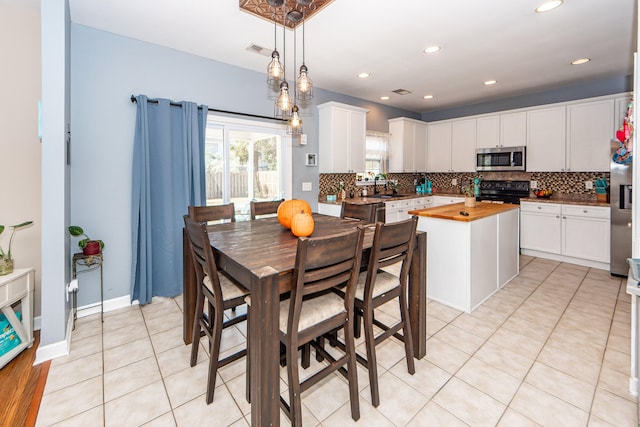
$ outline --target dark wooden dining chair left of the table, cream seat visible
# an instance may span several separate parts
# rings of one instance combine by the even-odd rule
[[[206,396],[207,404],[209,404],[213,401],[218,368],[240,359],[247,353],[246,349],[242,349],[219,359],[222,330],[247,319],[247,315],[243,314],[225,321],[224,311],[244,304],[248,292],[225,275],[218,274],[206,224],[196,222],[188,215],[184,216],[184,224],[189,237],[196,283],[198,283],[191,337],[190,365],[193,367],[197,363],[200,337],[204,332],[204,335],[209,339],[209,374]],[[205,300],[207,302],[206,311]]]

